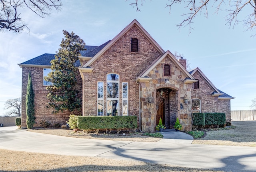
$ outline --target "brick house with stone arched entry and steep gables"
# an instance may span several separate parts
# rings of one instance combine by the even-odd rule
[[[164,51],[137,20],[100,46],[86,46],[75,66],[83,116],[138,118],[138,129],[153,132],[160,117],[173,128],[178,117],[182,130],[191,130],[193,112],[224,112],[230,122],[232,96],[218,90],[196,68],[186,70],[186,59]],[[40,120],[66,124],[69,112],[51,114],[46,108],[50,83],[44,81],[54,54],[43,54],[21,64],[22,128],[26,128],[26,86],[31,72],[35,92],[36,124]]]

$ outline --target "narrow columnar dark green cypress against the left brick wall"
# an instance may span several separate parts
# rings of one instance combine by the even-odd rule
[[[32,128],[35,123],[34,97],[35,97],[35,94],[34,94],[32,80],[29,72],[27,94],[26,94],[26,115],[27,115],[26,122],[27,122],[28,128]]]

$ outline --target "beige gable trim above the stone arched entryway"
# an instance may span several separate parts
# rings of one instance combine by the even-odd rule
[[[193,76],[180,64],[180,62],[174,57],[174,55],[168,50],[166,51],[162,56],[159,56],[146,70],[144,70],[138,78],[144,78],[147,77],[147,75],[150,73],[151,70],[153,70],[164,58],[169,57],[172,62],[186,75],[186,79],[191,80],[193,83]],[[138,78],[136,80],[138,80]],[[196,82],[196,80],[194,80]]]

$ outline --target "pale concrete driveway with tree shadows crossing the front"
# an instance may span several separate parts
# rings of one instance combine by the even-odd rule
[[[256,171],[255,147],[92,140],[16,130],[16,127],[1,127],[0,148],[48,154],[138,160],[232,172]]]

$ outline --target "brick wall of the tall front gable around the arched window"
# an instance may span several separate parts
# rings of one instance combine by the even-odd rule
[[[138,38],[139,51],[130,52],[130,38]],[[122,82],[128,82],[129,115],[139,114],[139,86],[136,78],[158,57],[160,52],[133,26],[114,43],[90,67],[92,73],[84,72],[84,116],[97,115],[97,82],[104,82],[104,114],[106,114],[106,76],[119,74],[119,97],[122,107]],[[122,114],[121,108],[119,113]]]

